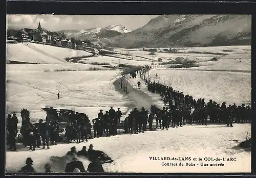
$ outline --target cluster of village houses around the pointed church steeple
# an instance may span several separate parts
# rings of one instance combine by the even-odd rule
[[[90,48],[97,49],[109,49],[109,47],[101,46],[99,44],[86,43],[81,40],[68,39],[64,34],[58,34],[57,32],[50,32],[41,27],[40,22],[37,29],[24,28],[16,33],[18,38],[33,40],[41,43],[56,45],[59,47],[67,47],[78,50],[90,50]]]

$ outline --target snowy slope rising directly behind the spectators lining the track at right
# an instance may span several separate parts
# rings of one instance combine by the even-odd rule
[[[156,79],[156,73],[158,79]],[[147,76],[146,76],[147,77]],[[153,69],[151,81],[171,86],[174,90],[227,105],[251,105],[251,73]]]

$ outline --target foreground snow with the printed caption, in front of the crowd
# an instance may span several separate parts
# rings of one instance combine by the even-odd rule
[[[113,160],[111,164],[103,164],[108,172],[250,172],[251,152],[238,149],[237,142],[243,141],[247,131],[250,136],[250,124],[234,124],[233,128],[224,125],[183,126],[183,128],[169,129],[168,131],[148,131],[137,135],[117,135],[89,140],[88,143],[70,143],[51,146],[49,150],[36,149],[36,151],[17,152],[7,151],[7,171],[17,171],[25,165],[26,158],[31,157],[37,172],[44,171],[44,165],[50,162],[51,156],[62,157],[76,146],[94,145],[94,149],[102,150]],[[42,157],[44,155],[44,157]],[[151,161],[149,157],[205,157],[236,158],[234,162],[224,161]],[[17,158],[19,161],[17,161]],[[89,161],[81,160],[85,168]],[[162,163],[223,163],[223,167],[201,166],[162,166]],[[52,171],[63,172],[51,163]]]

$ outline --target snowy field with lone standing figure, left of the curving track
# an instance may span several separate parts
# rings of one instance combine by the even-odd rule
[[[23,65],[23,64],[22,64]],[[119,71],[64,71],[64,72],[15,72],[7,71],[7,112],[20,112],[27,108],[32,120],[45,118],[41,110],[47,105],[56,108],[75,108],[94,119],[99,109],[111,106],[122,111],[127,98],[119,94],[113,82]],[[32,77],[33,76],[33,77]],[[60,99],[57,99],[57,93]]]

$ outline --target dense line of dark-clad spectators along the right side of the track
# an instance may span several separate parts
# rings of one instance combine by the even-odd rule
[[[159,93],[164,102],[164,106],[168,104],[171,112],[175,113],[175,110],[180,110],[183,124],[185,120],[187,120],[189,124],[194,121],[196,123],[201,122],[202,124],[206,124],[208,116],[210,123],[225,123],[227,126],[230,125],[231,127],[233,126],[233,121],[235,123],[251,121],[250,106],[245,107],[245,104],[237,106],[234,103],[227,107],[226,102],[223,102],[222,105],[220,105],[216,101],[212,101],[212,99],[210,99],[208,103],[205,103],[204,98],[196,100],[193,96],[184,95],[183,92],[173,90],[172,87],[156,83],[155,81],[151,82],[146,79],[145,72],[145,69],[141,69],[139,71],[140,78],[147,85],[148,91],[152,93]],[[156,74],[156,78],[157,77],[158,76]],[[192,109],[195,109],[193,113],[191,113]]]

